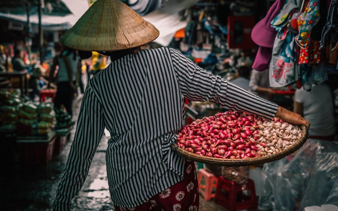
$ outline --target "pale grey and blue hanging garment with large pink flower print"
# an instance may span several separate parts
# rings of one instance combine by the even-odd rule
[[[294,34],[287,30],[276,35],[269,68],[271,87],[283,87],[298,80]]]

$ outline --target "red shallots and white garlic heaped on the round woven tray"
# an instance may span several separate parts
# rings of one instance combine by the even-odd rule
[[[176,143],[197,155],[240,159],[270,156],[300,137],[299,127],[279,118],[267,121],[246,112],[226,111],[184,126]]]

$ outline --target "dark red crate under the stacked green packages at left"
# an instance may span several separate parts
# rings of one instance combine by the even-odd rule
[[[17,149],[24,164],[47,165],[52,159],[55,131],[40,136],[18,136]]]

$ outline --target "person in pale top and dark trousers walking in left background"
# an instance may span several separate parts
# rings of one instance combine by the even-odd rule
[[[54,59],[50,76],[54,75],[56,65],[59,66],[57,71],[57,91],[54,100],[54,106],[57,109],[64,105],[67,112],[73,115],[72,102],[74,92],[76,91],[76,76],[78,71],[79,57],[75,50],[65,48],[59,56]],[[50,80],[51,81],[51,80]]]

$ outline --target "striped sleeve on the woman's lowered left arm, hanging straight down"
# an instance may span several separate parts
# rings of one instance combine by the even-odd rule
[[[53,209],[70,210],[70,201],[81,189],[104,131],[102,107],[88,85],[83,95],[74,140],[66,168],[56,190]]]

